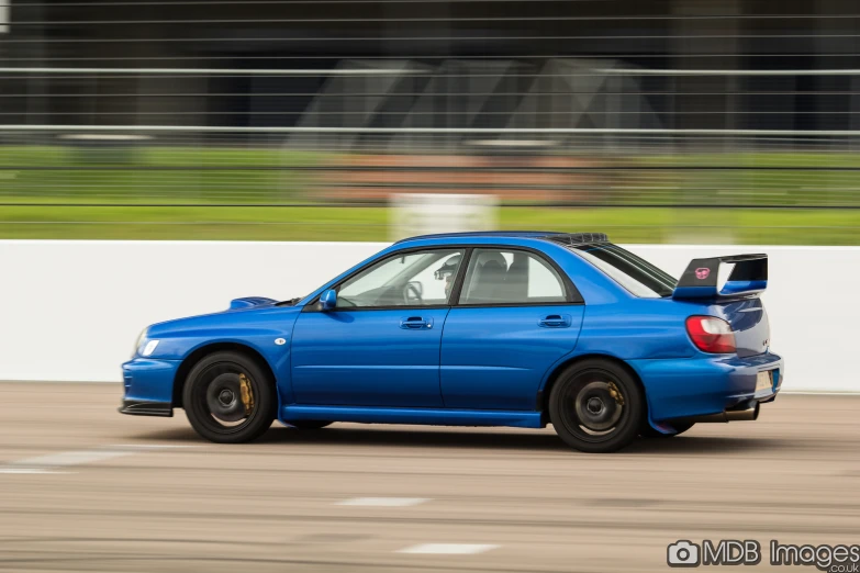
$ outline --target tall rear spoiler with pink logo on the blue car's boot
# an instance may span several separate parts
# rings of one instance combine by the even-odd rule
[[[731,274],[717,290],[719,265],[734,265]],[[672,299],[736,299],[758,294],[768,288],[767,255],[733,255],[693,259],[674,288]]]

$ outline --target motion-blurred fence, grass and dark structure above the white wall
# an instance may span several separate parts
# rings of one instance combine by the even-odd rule
[[[0,0],[0,238],[858,245],[857,12]]]

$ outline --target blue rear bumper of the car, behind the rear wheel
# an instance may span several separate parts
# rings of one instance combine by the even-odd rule
[[[700,355],[629,363],[645,386],[652,425],[771,402],[785,371],[782,358],[771,352],[747,358]],[[768,370],[773,371],[773,384],[757,391],[758,373]]]

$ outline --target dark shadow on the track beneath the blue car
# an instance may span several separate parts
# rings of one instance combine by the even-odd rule
[[[394,448],[448,448],[478,450],[525,450],[547,452],[570,452],[556,434],[549,429],[522,431],[493,431],[481,428],[466,429],[403,429],[384,425],[367,428],[337,425],[319,430],[300,430],[272,426],[254,443],[283,443],[311,446],[345,447],[394,447]],[[415,429],[413,429],[415,428]],[[174,428],[134,436],[148,441],[200,442],[206,443],[193,429]],[[695,453],[748,453],[773,451],[791,448],[791,443],[781,439],[722,436],[677,436],[674,438],[638,438],[618,454],[695,454]]]

